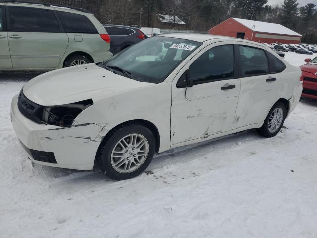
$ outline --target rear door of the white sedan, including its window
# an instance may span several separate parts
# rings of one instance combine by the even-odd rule
[[[262,123],[267,111],[278,98],[280,81],[279,75],[270,70],[268,53],[264,48],[247,43],[237,47],[241,90],[234,128]]]

